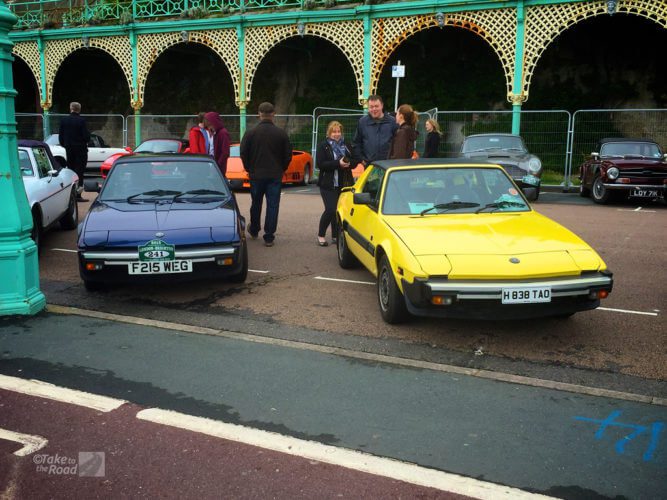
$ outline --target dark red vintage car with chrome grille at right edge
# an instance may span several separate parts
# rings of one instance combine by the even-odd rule
[[[595,203],[615,195],[664,201],[667,154],[650,139],[602,139],[579,167],[579,180],[579,194]]]

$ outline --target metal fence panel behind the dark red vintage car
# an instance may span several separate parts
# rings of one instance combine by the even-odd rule
[[[571,176],[605,137],[652,139],[667,147],[667,109],[582,109],[572,118]]]

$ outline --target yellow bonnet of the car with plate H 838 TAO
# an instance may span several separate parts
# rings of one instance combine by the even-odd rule
[[[387,223],[427,275],[529,279],[604,268],[583,240],[536,212],[396,216]]]

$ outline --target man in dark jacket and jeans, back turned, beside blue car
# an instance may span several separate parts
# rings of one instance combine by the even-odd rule
[[[273,246],[278,228],[278,209],[283,174],[292,161],[292,144],[287,133],[273,123],[274,109],[270,102],[259,105],[260,122],[248,130],[241,140],[241,160],[250,177],[250,226],[248,233],[257,238],[261,229],[262,202],[266,196],[264,244]]]

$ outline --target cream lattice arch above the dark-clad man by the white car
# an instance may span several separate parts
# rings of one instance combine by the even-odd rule
[[[123,71],[130,90],[130,95],[132,95],[132,51],[128,37],[109,36],[90,38],[87,40],[87,43],[88,45],[84,43],[83,38],[49,40],[46,43],[46,49],[44,51],[46,65],[46,102],[43,103],[43,108],[48,109],[51,107],[53,82],[56,79],[56,73],[58,72],[60,65],[70,54],[85,48],[100,49],[113,57]],[[39,58],[37,60],[39,61]]]

